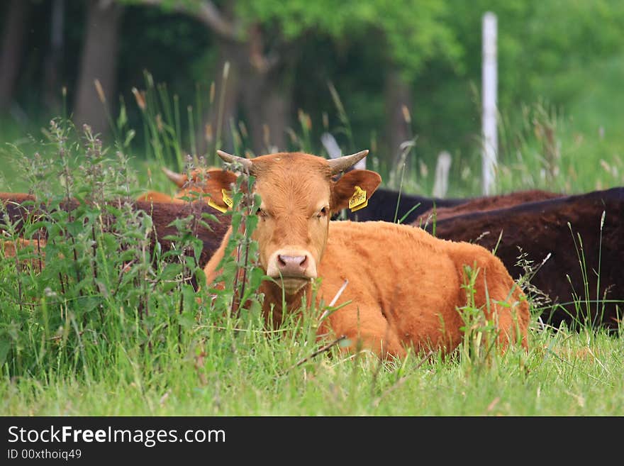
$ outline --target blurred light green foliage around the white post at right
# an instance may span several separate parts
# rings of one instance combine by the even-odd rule
[[[601,159],[610,166],[621,163],[619,138],[606,128],[618,127],[620,121],[615,106],[621,107],[622,102],[611,83],[620,79],[616,69],[623,53],[623,4],[479,0],[455,1],[451,8],[454,14],[447,23],[462,44],[462,66],[454,70],[445,60],[433,57],[413,81],[417,149],[430,172],[435,155],[450,150],[454,180],[450,195],[481,193],[478,183],[467,187],[464,179],[480,179],[481,172],[481,17],[485,11],[493,11],[498,18],[500,138],[520,134],[527,138],[528,113],[540,105],[547,113],[555,112],[561,123],[559,140],[567,145],[562,148],[562,160],[573,165],[576,174],[585,173],[578,180],[586,183],[584,187],[573,182],[564,187],[566,192],[621,184],[621,177],[608,183],[606,177],[600,176],[600,181],[592,177]],[[602,137],[600,128],[606,130]],[[518,152],[510,149],[503,142],[499,152],[503,165],[535,167],[533,160],[524,154],[518,160]],[[501,192],[534,185],[510,181],[513,186],[506,184]]]

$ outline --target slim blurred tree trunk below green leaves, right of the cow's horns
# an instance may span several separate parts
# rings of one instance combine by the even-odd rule
[[[401,144],[413,138],[411,126],[412,94],[399,70],[389,67],[385,82],[386,143],[389,161],[396,163]]]

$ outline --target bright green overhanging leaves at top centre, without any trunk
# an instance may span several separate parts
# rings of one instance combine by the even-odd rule
[[[236,8],[247,22],[277,26],[286,40],[310,31],[356,42],[379,34],[389,48],[387,56],[379,58],[396,62],[408,75],[420,71],[430,57],[457,60],[462,53],[444,21],[452,11],[439,0],[261,0],[239,1]]]

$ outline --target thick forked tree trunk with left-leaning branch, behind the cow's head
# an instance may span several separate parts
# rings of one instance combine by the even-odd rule
[[[211,1],[129,0],[128,3],[162,6],[186,13],[203,23],[216,36],[220,70],[216,91],[224,95],[224,105],[208,109],[204,125],[210,123],[216,133],[223,133],[238,107],[247,116],[253,150],[266,152],[270,146],[286,147],[284,128],[289,121],[289,87],[281,86],[279,67],[284,63],[280,45],[266,52],[265,33],[260,23],[240,21],[238,2],[225,2],[218,9]],[[225,65],[227,63],[227,65]],[[219,114],[221,113],[221,114]],[[268,133],[268,134],[267,134]],[[206,150],[204,138],[198,138],[199,152]]]

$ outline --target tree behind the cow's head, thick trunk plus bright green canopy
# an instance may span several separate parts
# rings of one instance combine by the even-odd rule
[[[429,57],[455,59],[461,52],[442,21],[448,11],[439,0],[238,0],[221,7],[210,0],[126,1],[189,14],[218,37],[221,59],[230,63],[228,92],[249,123],[255,152],[286,148],[294,66],[306,60],[298,55],[298,45],[310,33],[362,46],[383,41],[385,55],[379,62],[401,70],[400,78],[389,75],[399,83],[418,74]]]

